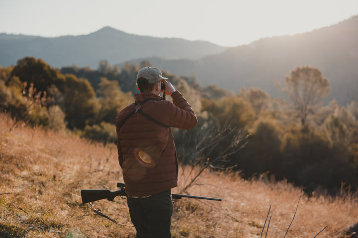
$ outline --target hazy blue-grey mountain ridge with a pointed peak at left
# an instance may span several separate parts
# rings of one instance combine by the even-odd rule
[[[76,65],[96,69],[100,60],[115,64],[153,56],[168,60],[199,59],[226,49],[206,41],[137,36],[111,27],[88,35],[54,38],[1,33],[0,65],[15,65],[17,60],[30,56],[58,68]]]

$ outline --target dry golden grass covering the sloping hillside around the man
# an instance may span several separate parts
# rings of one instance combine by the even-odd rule
[[[115,146],[13,124],[0,114],[0,237],[135,237],[134,228],[116,225],[81,202],[81,189],[116,190],[116,182],[123,181]],[[188,171],[180,173],[180,186],[189,178]],[[235,174],[206,171],[189,193],[223,201],[176,201],[174,238],[258,238],[270,205],[267,237],[283,238],[301,195],[286,237],[314,237],[325,226],[318,237],[343,237],[339,232],[358,222],[357,196],[307,197],[286,182],[247,181]],[[116,221],[131,225],[125,199],[94,204]]]

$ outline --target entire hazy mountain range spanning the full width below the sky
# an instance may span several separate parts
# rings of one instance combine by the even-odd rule
[[[358,102],[358,15],[335,25],[296,34],[263,38],[248,45],[225,48],[203,41],[137,36],[104,27],[82,36],[43,38],[0,34],[0,65],[16,64],[25,56],[41,58],[54,67],[89,66],[100,60],[122,65],[149,60],[177,75],[195,75],[205,86],[215,84],[237,92],[259,87],[283,96],[275,81],[284,82],[296,66],[310,65],[327,77],[326,102]]]

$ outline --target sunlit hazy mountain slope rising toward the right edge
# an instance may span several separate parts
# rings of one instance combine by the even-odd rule
[[[310,65],[331,84],[326,102],[335,99],[347,105],[358,101],[357,42],[358,15],[303,34],[263,38],[200,60],[146,60],[178,75],[195,74],[204,86],[215,84],[234,92],[259,87],[273,97],[282,96],[275,81],[283,83],[296,66]]]

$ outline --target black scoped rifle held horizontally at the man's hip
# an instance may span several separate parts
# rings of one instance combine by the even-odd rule
[[[124,183],[118,182],[117,187],[120,187],[120,189],[117,191],[113,191],[113,192],[111,192],[108,189],[82,189],[81,190],[82,203],[85,204],[87,202],[94,202],[94,201],[102,200],[105,198],[107,198],[107,200],[109,200],[109,201],[113,201],[113,199],[116,196],[125,198],[127,196],[127,194],[125,192]],[[173,199],[181,199],[182,197],[221,201],[220,198],[198,197],[198,196],[190,196],[190,195],[176,194],[176,193],[172,194]]]

